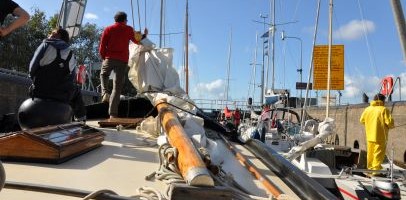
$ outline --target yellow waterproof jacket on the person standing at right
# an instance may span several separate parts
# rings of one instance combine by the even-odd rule
[[[371,101],[359,121],[365,125],[366,139],[369,142],[386,142],[389,129],[394,127],[392,115],[380,100]]]

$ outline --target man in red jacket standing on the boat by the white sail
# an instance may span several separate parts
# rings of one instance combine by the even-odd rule
[[[100,72],[102,101],[109,102],[110,118],[118,117],[120,94],[125,82],[126,68],[128,67],[129,42],[140,44],[142,37],[146,37],[148,34],[148,29],[145,29],[144,35],[141,36],[140,32],[135,32],[131,26],[128,26],[125,12],[117,12],[114,21],[114,24],[104,29],[99,47],[99,53],[103,59]],[[114,71],[115,77],[110,95],[107,84],[112,71]]]

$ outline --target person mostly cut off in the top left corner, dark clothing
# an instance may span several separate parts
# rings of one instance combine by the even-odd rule
[[[17,19],[11,22],[8,26],[0,26],[0,37],[8,35],[15,29],[23,26],[30,19],[30,15],[14,1],[0,0],[0,24],[4,23],[4,19],[9,14],[17,16]]]

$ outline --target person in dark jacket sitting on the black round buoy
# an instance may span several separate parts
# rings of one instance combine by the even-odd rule
[[[69,103],[77,121],[86,119],[82,94],[74,82],[76,60],[69,47],[69,33],[58,28],[38,46],[30,62],[32,98]]]

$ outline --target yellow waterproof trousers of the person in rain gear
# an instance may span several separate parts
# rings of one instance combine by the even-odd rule
[[[367,167],[371,170],[381,170],[382,162],[385,159],[386,144],[380,144],[377,142],[367,143]]]

